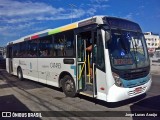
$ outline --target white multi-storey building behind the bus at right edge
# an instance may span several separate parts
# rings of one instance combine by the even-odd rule
[[[148,52],[154,53],[155,49],[160,47],[160,37],[152,32],[145,32],[144,37],[147,42]]]

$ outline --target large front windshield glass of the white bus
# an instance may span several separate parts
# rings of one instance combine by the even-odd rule
[[[106,46],[115,69],[135,69],[149,65],[144,35],[139,32],[111,30]]]

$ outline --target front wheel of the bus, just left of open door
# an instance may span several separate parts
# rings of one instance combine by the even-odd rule
[[[71,76],[66,75],[64,76],[62,83],[62,90],[67,97],[75,97],[76,95],[76,88],[74,80]]]

